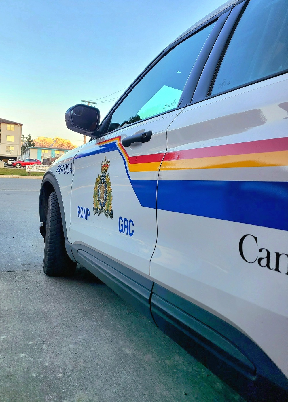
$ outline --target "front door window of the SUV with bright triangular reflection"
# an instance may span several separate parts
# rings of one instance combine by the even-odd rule
[[[208,25],[167,53],[117,107],[108,131],[177,107],[187,78],[214,25]]]

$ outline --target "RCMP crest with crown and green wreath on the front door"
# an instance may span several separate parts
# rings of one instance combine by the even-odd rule
[[[98,175],[95,182],[93,212],[94,215],[96,213],[100,215],[103,212],[107,217],[110,216],[113,219],[111,181],[109,174],[107,174],[109,166],[110,161],[106,160],[105,155],[101,163],[101,174]]]

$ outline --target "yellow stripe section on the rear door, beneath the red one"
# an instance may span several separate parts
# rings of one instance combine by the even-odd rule
[[[179,159],[163,161],[161,170],[176,169],[215,169],[215,168],[251,168],[260,166],[288,165],[288,151],[261,152],[206,158]]]

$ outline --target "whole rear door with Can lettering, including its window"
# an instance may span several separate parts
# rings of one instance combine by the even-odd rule
[[[167,131],[151,260],[152,279],[240,328],[286,375],[287,32],[286,1],[251,0],[212,80],[218,38]]]

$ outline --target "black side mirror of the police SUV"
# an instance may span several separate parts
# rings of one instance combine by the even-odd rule
[[[98,138],[101,135],[98,131],[100,111],[96,107],[82,105],[82,103],[70,107],[65,113],[65,121],[67,128],[76,131],[76,133],[93,138]]]

